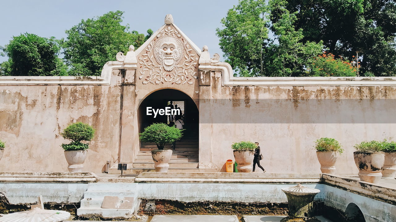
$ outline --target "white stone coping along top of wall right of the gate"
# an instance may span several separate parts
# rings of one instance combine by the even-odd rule
[[[226,62],[199,69],[221,71],[223,86],[396,86],[396,77],[234,77]]]

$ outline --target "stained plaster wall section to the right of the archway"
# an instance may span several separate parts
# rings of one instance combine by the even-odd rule
[[[200,162],[211,158],[219,168],[234,159],[233,142],[257,141],[267,172],[319,173],[314,141],[332,137],[345,149],[337,173],[357,173],[353,145],[393,137],[396,130],[396,87],[240,87],[222,86],[221,78],[212,72],[200,94]]]

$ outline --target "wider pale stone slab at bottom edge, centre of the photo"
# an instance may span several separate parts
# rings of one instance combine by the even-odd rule
[[[150,222],[239,222],[235,215],[155,215]]]

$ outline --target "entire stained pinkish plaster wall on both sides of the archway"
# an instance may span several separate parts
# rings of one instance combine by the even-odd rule
[[[395,87],[223,86],[220,71],[211,71],[210,81],[199,86],[169,87],[143,85],[134,71],[126,84],[123,75],[113,70],[109,85],[0,85],[2,171],[67,171],[60,145],[69,141],[60,132],[77,121],[97,130],[84,171],[101,172],[107,160],[134,162],[139,103],[162,88],[189,92],[199,106],[199,162],[220,171],[234,159],[233,142],[257,141],[267,172],[320,173],[314,141],[332,137],[345,149],[337,173],[357,173],[353,145],[396,132]]]

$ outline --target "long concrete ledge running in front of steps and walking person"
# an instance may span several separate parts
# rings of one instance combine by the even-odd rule
[[[213,183],[318,183],[321,174],[315,173],[162,173],[143,172],[135,182],[213,182]]]

